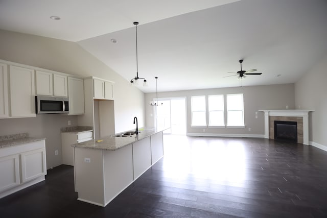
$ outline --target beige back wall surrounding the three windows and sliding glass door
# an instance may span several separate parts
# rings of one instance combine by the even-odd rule
[[[244,123],[245,128],[192,128],[191,127],[191,96],[193,95],[211,95],[243,93],[244,98]],[[294,108],[294,84],[266,85],[266,86],[248,86],[234,88],[217,88],[186,90],[174,92],[158,92],[158,98],[186,97],[188,133],[192,134],[230,134],[230,135],[264,135],[264,114],[258,112],[258,118],[255,118],[255,111],[264,109],[290,109]],[[155,98],[155,93],[146,93],[146,120],[147,126],[153,126],[154,107],[150,106],[150,101]],[[226,100],[225,100],[226,101]],[[159,106],[160,107],[160,106]],[[225,106],[226,110],[226,106]],[[226,113],[225,113],[226,120]],[[251,131],[248,130],[251,128]]]

